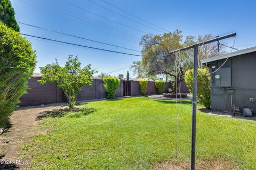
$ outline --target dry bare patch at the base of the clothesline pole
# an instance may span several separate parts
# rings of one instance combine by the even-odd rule
[[[158,170],[189,170],[189,162],[181,161],[168,161],[156,164]],[[195,169],[197,170],[231,170],[233,166],[231,163],[224,162],[222,160],[201,160],[196,162]]]

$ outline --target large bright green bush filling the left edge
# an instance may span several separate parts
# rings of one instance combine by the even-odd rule
[[[0,127],[8,121],[36,66],[31,44],[0,21]]]

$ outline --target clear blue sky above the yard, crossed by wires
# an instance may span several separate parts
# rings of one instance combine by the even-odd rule
[[[126,19],[123,16],[110,12],[87,0],[74,0],[69,2],[115,22],[68,5],[62,0],[11,0],[16,13],[15,17],[19,22],[139,51],[141,50],[139,39],[142,35],[145,35],[145,33],[162,33],[159,31],[159,28],[154,25],[169,31],[175,29],[182,30],[183,36],[198,36],[206,33],[221,36],[236,31],[237,37],[235,46],[237,48],[249,48],[252,46],[247,45],[252,44],[256,46],[256,1],[105,0],[154,25],[138,20],[101,0],[91,1],[125,15],[137,22],[146,24],[149,27],[154,27],[156,30]],[[134,29],[125,27],[116,22],[125,24]],[[21,33],[29,35],[140,55],[139,52],[131,50],[59,35],[58,33],[31,28],[22,24],[19,25]],[[78,55],[79,61],[81,61],[83,66],[92,64],[93,68],[97,68],[99,72],[104,73],[115,71],[132,64],[132,61],[141,59],[139,56],[129,56],[83,47],[67,46],[59,43],[49,43],[49,41],[42,41],[37,38],[29,38],[29,40],[37,52],[37,68],[35,70],[37,73],[39,72],[39,66],[52,63],[55,61],[55,58],[58,59],[60,64],[64,64],[69,54]],[[231,46],[233,39],[230,38],[225,40],[225,42]],[[127,70],[129,70],[129,67],[125,67],[123,70],[110,74],[126,74]]]

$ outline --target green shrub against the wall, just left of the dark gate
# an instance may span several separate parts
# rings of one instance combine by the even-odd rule
[[[103,78],[104,87],[107,91],[107,98],[114,99],[116,90],[119,87],[120,80],[118,78]]]

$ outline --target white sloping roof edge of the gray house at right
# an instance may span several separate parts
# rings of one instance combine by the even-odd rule
[[[222,54],[222,55],[218,55],[218,56],[215,56],[215,57],[207,58],[205,60],[201,60],[201,63],[202,64],[210,63],[210,62],[225,59],[225,58],[228,58],[228,57],[234,57],[234,56],[247,54],[247,53],[252,53],[252,52],[256,52],[256,46],[251,47],[251,48],[242,49],[242,50],[239,50],[239,51],[233,52],[233,53],[227,53],[227,54]]]

